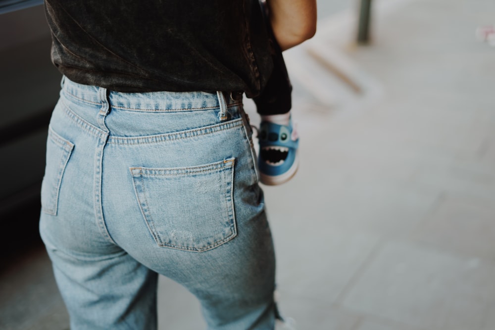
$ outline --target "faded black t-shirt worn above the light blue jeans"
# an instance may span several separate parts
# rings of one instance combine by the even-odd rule
[[[52,61],[118,92],[244,91],[272,71],[258,0],[46,0]]]

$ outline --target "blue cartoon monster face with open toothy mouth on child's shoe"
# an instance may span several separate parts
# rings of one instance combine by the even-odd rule
[[[280,166],[284,164],[289,154],[288,144],[291,140],[291,132],[285,126],[261,125],[258,139],[266,144],[260,149],[260,157],[267,165]],[[273,145],[272,145],[273,143]]]

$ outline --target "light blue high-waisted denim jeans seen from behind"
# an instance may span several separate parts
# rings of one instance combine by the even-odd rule
[[[230,94],[126,94],[65,79],[40,233],[71,330],[156,329],[158,274],[208,329],[273,329],[275,257],[251,129]]]

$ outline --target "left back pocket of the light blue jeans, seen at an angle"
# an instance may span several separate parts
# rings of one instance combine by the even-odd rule
[[[62,176],[74,144],[56,134],[51,128],[47,140],[47,165],[41,184],[41,207],[43,212],[56,215]]]

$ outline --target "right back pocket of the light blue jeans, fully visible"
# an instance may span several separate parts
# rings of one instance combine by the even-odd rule
[[[159,246],[202,252],[237,235],[234,161],[130,168],[139,207]]]

